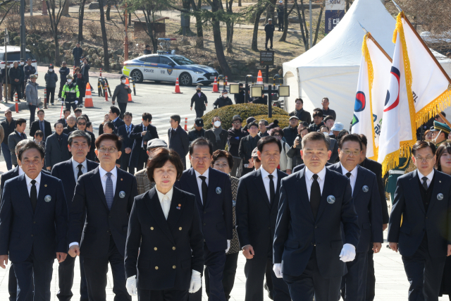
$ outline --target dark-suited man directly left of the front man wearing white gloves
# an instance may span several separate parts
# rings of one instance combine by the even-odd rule
[[[236,219],[240,247],[246,257],[246,301],[263,300],[266,266],[271,266],[273,300],[291,300],[288,285],[272,271],[280,180],[288,176],[277,169],[282,145],[276,137],[257,142],[261,167],[240,178]]]

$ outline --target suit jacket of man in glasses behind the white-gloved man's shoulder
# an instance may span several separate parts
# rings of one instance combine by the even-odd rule
[[[328,166],[331,171],[342,173],[340,162]],[[355,180],[354,209],[357,212],[360,238],[356,252],[368,252],[370,242],[383,242],[382,210],[379,199],[376,175],[362,166],[357,165]],[[346,242],[345,242],[346,243]]]

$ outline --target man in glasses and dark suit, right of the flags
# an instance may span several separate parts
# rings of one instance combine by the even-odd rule
[[[417,141],[412,161],[417,169],[397,179],[387,240],[402,255],[409,301],[438,300],[451,255],[451,177],[434,169],[432,142]]]

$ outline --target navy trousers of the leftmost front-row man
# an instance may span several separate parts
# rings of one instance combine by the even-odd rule
[[[50,301],[50,283],[54,259],[39,261],[32,251],[23,262],[13,262],[17,279],[17,301]],[[32,284],[35,291],[32,291]]]

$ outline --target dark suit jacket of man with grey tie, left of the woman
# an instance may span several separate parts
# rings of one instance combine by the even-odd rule
[[[86,258],[108,256],[110,235],[122,256],[125,255],[128,217],[137,195],[136,179],[130,173],[116,168],[118,179],[111,211],[106,204],[99,167],[78,178],[72,206],[69,209],[68,242],[78,242]],[[120,197],[120,192],[125,192]],[[85,223],[86,212],[86,223]]]

